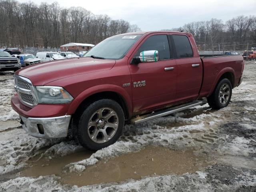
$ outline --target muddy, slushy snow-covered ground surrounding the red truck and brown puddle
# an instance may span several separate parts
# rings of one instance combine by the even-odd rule
[[[90,158],[67,164],[63,168],[64,171],[82,172],[87,166],[92,166],[101,159],[107,160],[113,156],[136,152],[148,145],[175,150],[193,147],[212,158],[239,156],[255,161],[256,164],[255,72],[254,62],[246,62],[244,82],[233,90],[232,100],[227,108],[213,111],[206,104],[138,126],[126,125],[118,142],[98,150]],[[12,73],[0,75],[0,86],[0,122],[17,119],[16,112],[10,107],[10,97],[14,94]],[[81,150],[81,146],[66,139],[32,138],[20,129],[17,129],[14,135],[0,142],[0,189],[3,191],[234,191],[240,188],[245,191],[256,190],[254,169],[250,169],[250,166],[247,166],[246,170],[234,169],[231,164],[222,165],[217,159],[212,168],[195,174],[148,176],[141,180],[80,188],[62,185],[60,178],[56,176],[14,176],[13,179],[4,179],[7,174],[16,173],[27,166],[30,158],[65,156]]]

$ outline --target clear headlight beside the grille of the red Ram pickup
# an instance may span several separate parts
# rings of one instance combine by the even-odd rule
[[[34,88],[38,103],[62,104],[73,100],[73,97],[62,87],[35,86]]]

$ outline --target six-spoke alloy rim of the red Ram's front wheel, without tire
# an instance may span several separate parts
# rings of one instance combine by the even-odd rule
[[[92,141],[108,142],[118,129],[118,116],[111,108],[100,108],[90,117],[87,131]]]

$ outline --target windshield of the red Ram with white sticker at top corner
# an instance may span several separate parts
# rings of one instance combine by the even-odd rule
[[[107,38],[84,54],[84,57],[121,59],[142,35],[120,35]]]

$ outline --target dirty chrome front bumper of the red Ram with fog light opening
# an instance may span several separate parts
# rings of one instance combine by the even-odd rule
[[[70,115],[50,118],[25,118],[20,116],[22,128],[38,138],[62,138],[68,135]]]

